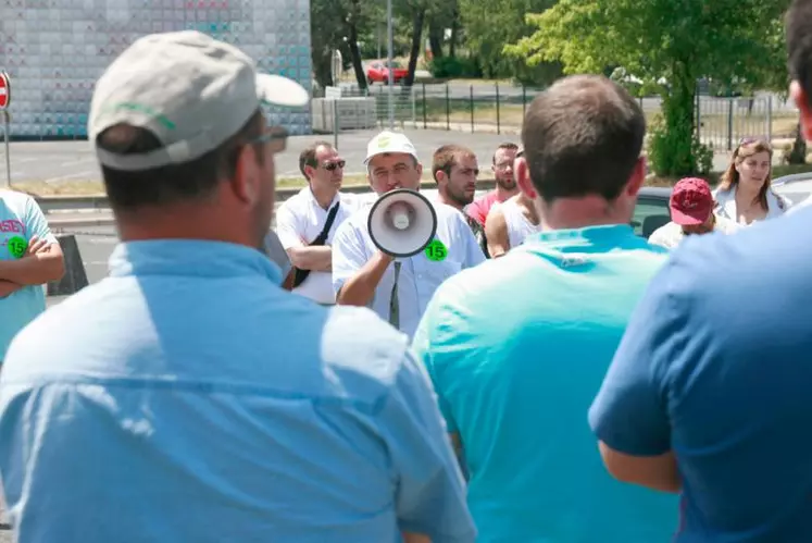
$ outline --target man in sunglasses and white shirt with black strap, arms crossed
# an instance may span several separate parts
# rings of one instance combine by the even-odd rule
[[[357,198],[342,194],[345,160],[327,141],[299,155],[308,186],[276,212],[276,233],[293,266],[293,292],[317,304],[336,303],[333,292],[333,236],[355,210]]]

